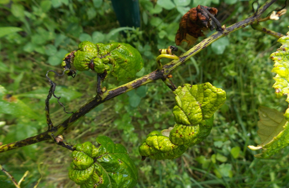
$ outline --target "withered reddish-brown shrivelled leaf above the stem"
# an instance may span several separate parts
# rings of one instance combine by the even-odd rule
[[[213,16],[218,13],[216,8],[206,7]],[[190,9],[180,20],[179,29],[175,35],[176,45],[180,45],[183,41],[187,42],[187,46],[190,46],[196,42],[198,37],[204,36],[203,31],[208,29],[213,30],[212,19],[201,8],[200,5],[196,8]]]

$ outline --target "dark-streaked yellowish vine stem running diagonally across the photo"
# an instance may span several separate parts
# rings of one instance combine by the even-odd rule
[[[47,130],[39,135],[26,138],[24,140],[16,141],[10,144],[0,146],[0,153],[20,148],[23,146],[28,146],[31,144],[35,144],[41,141],[50,140],[52,139],[52,135],[62,135],[62,133],[69,128],[73,123],[75,123],[79,118],[83,117],[85,114],[90,112],[93,108],[99,106],[100,104],[113,99],[122,93],[128,92],[132,89],[135,89],[139,86],[145,85],[147,83],[153,82],[158,79],[166,80],[167,84],[170,83],[167,80],[167,75],[176,67],[181,65],[183,62],[188,60],[190,57],[196,55],[198,52],[203,50],[204,48],[208,47],[213,42],[219,40],[222,37],[229,35],[239,29],[242,29],[248,25],[257,24],[258,19],[260,18],[261,14],[264,13],[266,9],[268,9],[274,2],[277,0],[269,0],[267,1],[261,8],[259,8],[254,14],[252,14],[249,18],[237,22],[226,28],[226,26],[222,26],[223,31],[217,31],[212,34],[210,37],[204,39],[202,42],[197,44],[196,46],[192,47],[190,50],[185,52],[179,57],[179,60],[173,60],[168,64],[164,65],[161,70],[153,71],[141,78],[135,79],[129,83],[123,84],[119,87],[114,89],[106,90],[103,95],[97,95],[85,105],[83,105],[78,111],[72,114],[68,119],[64,122],[59,124],[58,126],[52,127],[51,130]],[[173,87],[173,86],[172,86]]]

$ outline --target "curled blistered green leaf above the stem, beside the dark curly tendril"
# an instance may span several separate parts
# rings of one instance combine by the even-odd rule
[[[134,47],[117,42],[93,44],[83,41],[78,45],[77,51],[66,54],[61,65],[69,68],[70,62],[73,62],[76,70],[91,69],[100,74],[112,73],[118,80],[133,78],[143,67],[143,59]]]

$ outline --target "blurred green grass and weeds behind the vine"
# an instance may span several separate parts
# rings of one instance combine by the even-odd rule
[[[0,32],[0,84],[31,109],[19,113],[0,106],[0,142],[10,143],[47,129],[46,71],[61,72],[62,58],[77,49],[79,42],[117,41],[133,45],[145,62],[137,73],[140,77],[156,69],[158,49],[174,45],[178,22],[191,7],[199,4],[215,7],[219,10],[218,20],[229,26],[252,14],[253,1],[139,0],[139,3],[141,28],[135,29],[119,28],[112,3],[107,0],[0,0],[0,29],[21,28],[9,34]],[[284,1],[278,1],[264,17],[283,5]],[[262,23],[283,34],[288,24],[288,14],[279,21]],[[288,148],[271,159],[256,159],[255,153],[247,148],[260,143],[256,134],[258,106],[284,111],[287,105],[284,98],[275,98],[271,87],[273,61],[268,57],[279,46],[275,38],[246,27],[218,40],[174,70],[172,80],[176,85],[209,81],[227,92],[227,101],[215,114],[215,126],[209,137],[180,158],[141,161],[138,153],[140,142],[149,132],[174,125],[171,113],[174,96],[161,81],[97,107],[66,131],[65,140],[74,145],[107,135],[115,143],[123,144],[139,169],[136,187],[288,187]],[[183,44],[175,54],[187,49]],[[95,95],[97,77],[93,72],[78,72],[74,79],[49,75],[57,83],[56,95],[61,96],[67,111],[77,110]],[[104,84],[113,88],[122,83],[109,77]],[[56,100],[51,104],[51,113],[54,125],[68,117]],[[2,153],[0,163],[17,180],[26,170],[30,171],[22,187],[33,187],[40,173],[43,179],[39,187],[78,187],[68,178],[70,153],[52,142],[42,142]],[[44,164],[39,172],[41,162]],[[0,187],[14,187],[3,172]]]

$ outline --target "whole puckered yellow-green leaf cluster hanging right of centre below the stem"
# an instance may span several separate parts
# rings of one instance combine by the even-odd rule
[[[211,132],[213,115],[224,104],[226,93],[207,82],[199,85],[184,84],[175,91],[176,106],[173,128],[151,132],[139,147],[144,160],[173,159],[189,146],[200,143]]]

